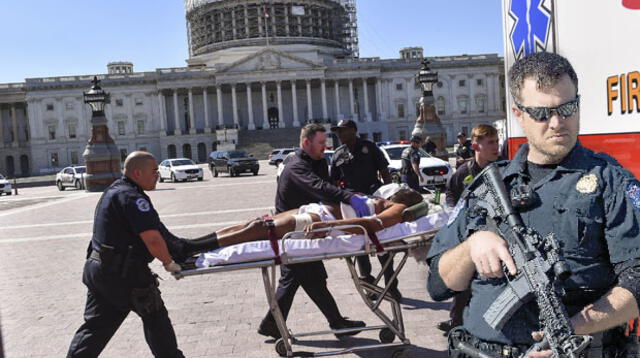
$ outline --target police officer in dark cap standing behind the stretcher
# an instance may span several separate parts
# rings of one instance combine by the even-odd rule
[[[342,143],[333,153],[331,159],[331,180],[336,185],[352,192],[371,195],[382,185],[378,176],[382,178],[384,184],[391,182],[387,168],[389,162],[373,142],[358,138],[356,135],[358,126],[354,121],[341,120],[338,125],[331,127],[331,130],[338,135],[340,143]],[[378,256],[378,260],[383,266],[389,258],[389,254]],[[375,278],[371,275],[369,256],[358,256],[356,262],[360,271],[360,279],[373,283]],[[391,276],[393,276],[393,261],[384,271],[385,282],[388,282]],[[402,298],[397,280],[391,283],[387,292],[396,300]]]

